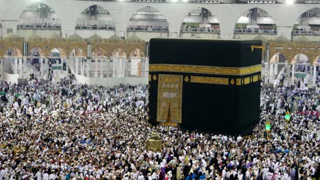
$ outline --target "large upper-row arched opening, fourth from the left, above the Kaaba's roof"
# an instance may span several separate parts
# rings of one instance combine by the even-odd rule
[[[211,11],[198,7],[183,19],[181,33],[220,33],[219,21]]]

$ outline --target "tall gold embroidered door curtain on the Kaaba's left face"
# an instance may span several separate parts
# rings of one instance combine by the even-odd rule
[[[182,123],[183,76],[159,74],[157,121],[164,125]]]

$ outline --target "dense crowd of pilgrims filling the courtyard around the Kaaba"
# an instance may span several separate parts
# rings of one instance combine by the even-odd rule
[[[36,81],[1,94],[0,179],[319,179],[319,92],[263,88],[252,136],[150,127],[146,86]],[[153,128],[162,151],[146,151]]]

